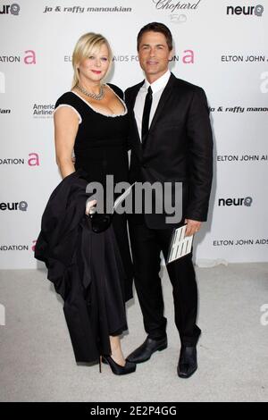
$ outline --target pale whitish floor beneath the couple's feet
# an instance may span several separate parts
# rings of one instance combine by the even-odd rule
[[[203,333],[198,370],[180,379],[180,341],[173,323],[172,289],[163,273],[168,349],[154,354],[135,374],[115,376],[109,366],[76,365],[62,301],[45,270],[0,272],[1,401],[267,401],[268,264],[197,268]],[[127,355],[145,339],[137,298],[128,307]],[[264,321],[268,315],[264,316]]]

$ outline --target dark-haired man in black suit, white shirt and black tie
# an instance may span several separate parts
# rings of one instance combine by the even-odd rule
[[[166,258],[174,227],[187,224],[187,235],[206,221],[213,172],[213,139],[202,88],[177,79],[168,69],[172,34],[162,23],[138,33],[138,59],[146,80],[126,90],[130,112],[130,182],[182,182],[182,219],[167,223],[166,214],[130,216],[135,286],[147,340],[128,360],[145,362],[166,349],[166,318],[160,252]],[[180,333],[178,374],[197,370],[197,282],[192,253],[167,265],[173,287],[175,323]]]

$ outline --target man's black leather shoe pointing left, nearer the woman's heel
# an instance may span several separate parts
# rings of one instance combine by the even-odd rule
[[[132,363],[142,363],[149,360],[155,351],[161,351],[167,348],[167,338],[166,336],[160,340],[153,340],[147,337],[147,340],[130,353],[130,356],[127,357],[127,360]]]

